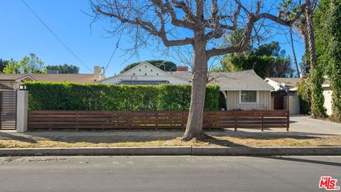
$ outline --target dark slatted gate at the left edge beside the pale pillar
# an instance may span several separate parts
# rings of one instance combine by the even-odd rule
[[[0,130],[16,129],[16,91],[0,91]]]

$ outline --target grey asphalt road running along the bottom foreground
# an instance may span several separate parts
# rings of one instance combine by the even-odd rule
[[[341,156],[0,157],[0,191],[325,191]]]

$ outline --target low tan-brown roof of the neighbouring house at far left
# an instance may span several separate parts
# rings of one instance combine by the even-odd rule
[[[94,82],[94,74],[0,74],[0,80],[18,80],[21,78],[32,78],[44,82]]]

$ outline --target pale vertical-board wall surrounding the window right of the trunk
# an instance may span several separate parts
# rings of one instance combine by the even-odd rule
[[[239,103],[239,91],[227,91],[227,110],[269,110],[270,91],[258,91],[259,102],[254,104]]]

